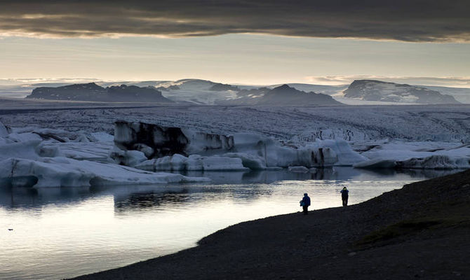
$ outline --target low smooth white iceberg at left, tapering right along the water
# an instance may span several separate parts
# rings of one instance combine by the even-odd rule
[[[207,181],[210,180],[204,177],[145,172],[121,165],[62,157],[37,160],[8,158],[0,161],[0,182],[15,187],[80,187]]]

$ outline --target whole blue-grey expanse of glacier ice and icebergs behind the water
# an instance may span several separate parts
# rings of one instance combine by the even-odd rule
[[[307,169],[305,174],[314,174],[316,169],[337,166],[469,168],[470,109],[462,104],[105,109],[92,104],[83,109],[58,110],[71,105],[41,103],[53,110],[34,109],[31,104],[25,111],[13,105],[12,113],[6,109],[0,112],[0,160],[6,166],[11,166],[8,160],[17,160],[21,166],[37,165],[36,170],[53,174],[53,170],[60,170],[55,167],[64,165],[74,174],[81,163],[93,162],[95,169],[86,171],[83,181],[51,181],[53,186],[90,186],[100,182],[98,178],[112,182],[109,173],[100,174],[100,167],[116,171],[126,167],[127,172],[134,173],[130,178],[141,178],[135,184],[165,181],[163,175],[158,180],[148,179],[148,174],[141,172],[203,176],[207,172],[228,170],[235,174],[289,167],[298,174]],[[116,129],[119,125],[115,121],[123,119],[126,121],[122,127]],[[152,130],[156,126],[176,127],[173,132],[177,133],[149,134],[152,125]],[[141,141],[145,134],[147,140]],[[59,159],[69,163],[57,162]],[[4,172],[2,180],[15,186],[30,186],[36,180],[34,188],[48,184],[39,180],[38,174],[19,172],[14,178],[5,174],[11,173]],[[173,178],[173,174],[168,176]],[[121,177],[113,184],[118,181],[128,183]]]

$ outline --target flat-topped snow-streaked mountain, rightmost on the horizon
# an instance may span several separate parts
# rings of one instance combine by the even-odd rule
[[[450,95],[414,85],[387,83],[380,80],[354,80],[344,90],[344,97],[366,101],[416,103],[416,104],[458,104]]]

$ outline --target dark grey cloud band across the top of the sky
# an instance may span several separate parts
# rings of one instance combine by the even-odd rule
[[[469,0],[0,0],[0,35],[211,36],[262,33],[470,41]]]

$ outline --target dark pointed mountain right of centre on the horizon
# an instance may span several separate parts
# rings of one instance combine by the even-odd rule
[[[315,92],[302,92],[288,85],[281,85],[270,90],[267,87],[241,90],[236,99],[224,104],[236,105],[340,105],[333,97]]]

